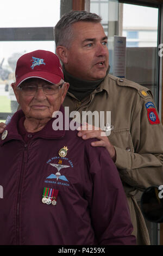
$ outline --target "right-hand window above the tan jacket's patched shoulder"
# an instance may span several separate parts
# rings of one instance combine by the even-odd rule
[[[126,36],[127,46],[126,78],[151,89],[156,105],[159,90],[156,51],[158,16],[158,8],[123,4],[122,35]]]

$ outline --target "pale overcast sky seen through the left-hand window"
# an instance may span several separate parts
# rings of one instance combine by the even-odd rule
[[[2,1],[2,0],[1,0]],[[60,0],[3,0],[0,9],[1,27],[54,27],[60,19]],[[8,65],[12,53],[35,50],[54,52],[54,41],[0,41],[0,63]]]

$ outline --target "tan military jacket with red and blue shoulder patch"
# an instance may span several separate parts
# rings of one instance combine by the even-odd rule
[[[159,117],[153,104],[148,88],[111,75],[81,102],[71,93],[67,93],[64,101],[70,111],[111,111],[114,130],[108,138],[115,146],[115,164],[127,194],[133,234],[139,245],[149,245],[150,241],[134,196],[149,186],[163,185],[163,127],[157,124]]]

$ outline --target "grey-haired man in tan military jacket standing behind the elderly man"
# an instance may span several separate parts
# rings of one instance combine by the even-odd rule
[[[107,36],[101,17],[71,11],[54,29],[57,54],[70,83],[64,105],[70,110],[111,111],[114,130],[80,131],[83,139],[98,138],[93,147],[105,147],[114,160],[126,191],[137,244],[149,245],[145,220],[135,194],[163,184],[163,129],[152,93],[139,84],[108,75]]]

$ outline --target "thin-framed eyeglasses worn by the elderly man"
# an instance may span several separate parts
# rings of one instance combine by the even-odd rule
[[[30,86],[18,86],[17,88],[26,96],[34,96],[38,89],[42,89],[45,95],[53,95],[59,92],[64,83],[65,82],[61,83],[59,86],[57,86],[57,84],[42,84],[42,87],[37,87],[35,84],[30,84]]]

